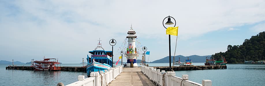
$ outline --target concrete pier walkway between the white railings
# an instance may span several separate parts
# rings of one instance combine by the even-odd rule
[[[112,81],[109,86],[156,86],[156,83],[150,81],[138,68],[123,68],[120,76]]]

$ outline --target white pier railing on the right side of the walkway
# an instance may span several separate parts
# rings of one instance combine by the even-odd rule
[[[176,77],[173,71],[161,71],[153,67],[146,67],[141,65],[141,72],[146,75],[150,80],[154,81],[156,85],[160,86],[212,86],[211,80],[202,80],[202,84],[189,81],[188,75],[182,75],[182,78]]]

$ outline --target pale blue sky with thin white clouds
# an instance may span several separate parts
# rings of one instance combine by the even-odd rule
[[[179,27],[177,42],[171,36],[171,56],[176,43],[175,56],[206,56],[265,30],[264,0],[1,0],[0,60],[31,62],[45,56],[80,63],[100,38],[107,51],[112,49],[109,40],[117,41],[117,61],[131,25],[140,45],[150,51],[146,60],[158,60],[169,56],[162,24],[169,15]]]

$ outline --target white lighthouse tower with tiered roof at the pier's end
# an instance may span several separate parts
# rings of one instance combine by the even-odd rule
[[[131,29],[128,31],[128,36],[126,38],[128,38],[128,46],[127,46],[127,63],[126,63],[126,67],[138,67],[137,63],[136,63],[136,59],[138,56],[138,51],[136,49],[135,46],[135,39],[137,36],[135,36],[135,31],[132,29],[132,26],[130,27]]]

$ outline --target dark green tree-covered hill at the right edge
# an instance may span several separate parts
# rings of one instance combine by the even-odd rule
[[[242,45],[228,45],[226,52],[219,52],[211,58],[221,60],[224,56],[228,63],[242,63],[244,60],[264,60],[265,56],[265,32],[260,32],[250,39],[245,39]]]

